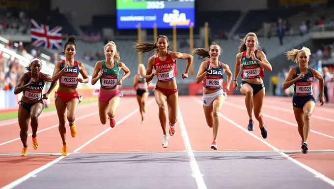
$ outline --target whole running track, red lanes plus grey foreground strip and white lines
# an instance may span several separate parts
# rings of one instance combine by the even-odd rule
[[[137,99],[123,97],[112,129],[100,124],[97,103],[79,105],[76,138],[67,126],[67,157],[60,156],[54,112],[42,113],[39,148],[33,150],[29,135],[27,157],[19,156],[22,143],[15,120],[0,122],[0,187],[334,188],[334,109],[317,102],[306,155],[300,153],[291,98],[266,96],[262,112],[267,139],[261,137],[257,121],[254,131],[247,130],[243,96],[228,96],[220,114],[218,150],[214,151],[201,96],[179,97],[176,133],[169,137],[167,148],[162,148],[153,96],[147,99],[143,124]]]

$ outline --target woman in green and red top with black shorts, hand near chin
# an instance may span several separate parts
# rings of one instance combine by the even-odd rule
[[[248,130],[253,130],[252,110],[254,107],[254,115],[259,122],[261,135],[267,138],[267,130],[264,127],[261,108],[265,95],[265,88],[262,78],[264,70],[272,71],[272,66],[268,62],[263,51],[257,50],[258,40],[255,33],[248,33],[239,47],[237,54],[237,62],[234,70],[234,88],[238,90],[237,78],[241,67],[243,68],[240,85],[240,92],[246,96],[245,103],[249,116]]]

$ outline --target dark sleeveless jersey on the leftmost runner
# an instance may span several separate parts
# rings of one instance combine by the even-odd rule
[[[24,85],[27,85],[31,79],[31,72],[27,72],[28,79],[25,81]],[[38,101],[41,99],[42,91],[44,88],[44,79],[43,79],[43,73],[39,72],[39,80],[30,84],[26,90],[23,91],[23,97],[29,99],[29,100],[35,100]]]

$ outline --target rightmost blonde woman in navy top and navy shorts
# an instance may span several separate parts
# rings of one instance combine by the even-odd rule
[[[302,153],[308,151],[307,140],[308,133],[311,129],[311,115],[315,108],[315,98],[313,96],[314,77],[319,80],[321,105],[324,105],[324,78],[313,68],[308,67],[309,56],[311,51],[307,47],[301,50],[292,49],[285,52],[288,60],[298,63],[296,67],[289,70],[288,75],[283,83],[283,90],[293,85],[294,95],[292,97],[293,112],[298,124],[298,132],[302,137]]]

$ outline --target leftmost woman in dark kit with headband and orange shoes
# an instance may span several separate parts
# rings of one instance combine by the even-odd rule
[[[14,94],[17,95],[23,92],[19,102],[18,120],[20,126],[20,138],[23,144],[21,156],[27,156],[28,152],[28,127],[29,120],[32,130],[32,148],[37,150],[37,128],[38,117],[42,113],[46,102],[43,99],[48,99],[51,91],[56,87],[57,82],[52,82],[47,93],[42,95],[45,82],[52,81],[51,75],[40,72],[42,69],[41,59],[34,57],[30,60],[26,67],[28,72],[24,73],[19,82],[16,84]],[[42,95],[42,96],[41,96]]]

